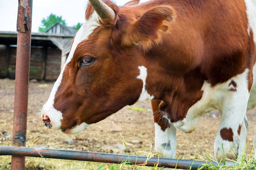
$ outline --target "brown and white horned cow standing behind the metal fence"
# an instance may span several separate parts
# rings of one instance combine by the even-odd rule
[[[217,160],[246,146],[256,105],[256,1],[159,0],[118,7],[90,0],[64,69],[42,108],[48,128],[80,133],[137,101],[152,100],[155,149],[174,158],[176,128],[221,112]]]

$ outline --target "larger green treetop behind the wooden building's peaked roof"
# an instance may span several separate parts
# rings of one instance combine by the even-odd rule
[[[42,20],[42,27],[39,27],[39,32],[46,32],[47,29],[51,28],[52,25],[60,23],[66,25],[65,20],[62,19],[62,16],[56,16],[55,14],[50,14],[47,19]]]

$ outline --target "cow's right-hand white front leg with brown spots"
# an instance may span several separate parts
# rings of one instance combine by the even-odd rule
[[[221,124],[214,141],[214,155],[217,161],[240,157],[245,150],[247,139],[247,84],[237,83],[236,89],[230,90],[223,97],[220,109]]]

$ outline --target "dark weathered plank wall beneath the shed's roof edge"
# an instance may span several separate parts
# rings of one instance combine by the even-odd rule
[[[30,79],[56,80],[60,74],[61,50],[32,47]],[[15,79],[16,47],[0,45],[0,78]]]

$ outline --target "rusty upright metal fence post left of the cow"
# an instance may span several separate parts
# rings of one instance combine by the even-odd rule
[[[15,71],[13,145],[26,146],[28,80],[30,71],[32,0],[19,0]],[[24,169],[25,157],[12,156],[11,169]]]

